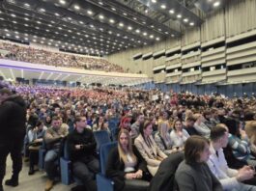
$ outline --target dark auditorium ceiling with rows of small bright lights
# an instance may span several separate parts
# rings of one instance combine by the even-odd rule
[[[0,0],[0,37],[108,55],[180,38],[226,0]],[[199,16],[199,14],[201,16]]]

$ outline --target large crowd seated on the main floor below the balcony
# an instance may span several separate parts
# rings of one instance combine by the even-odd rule
[[[181,191],[256,190],[255,97],[28,85],[15,85],[15,91],[27,103],[29,175],[35,173],[37,146],[46,145],[45,190],[53,187],[65,139],[74,177],[84,190],[97,189],[94,131],[107,131],[117,140],[106,164],[116,191],[172,190],[154,179],[171,173],[162,169],[168,165],[164,161],[177,153],[185,160],[177,164],[171,185]]]

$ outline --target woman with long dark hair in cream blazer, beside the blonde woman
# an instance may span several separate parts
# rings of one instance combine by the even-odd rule
[[[146,121],[139,126],[139,136],[135,139],[134,145],[139,150],[142,157],[147,162],[148,170],[152,176],[156,175],[156,171],[160,162],[167,157],[167,155],[161,151],[152,136],[152,122]]]

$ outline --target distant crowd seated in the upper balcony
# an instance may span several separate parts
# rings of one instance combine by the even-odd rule
[[[0,54],[0,58],[14,61],[50,65],[55,67],[124,72],[122,67],[109,63],[105,59],[74,56],[61,52],[51,52],[49,50],[37,49],[32,46],[26,47],[24,45],[21,46],[18,44],[0,41],[0,50],[8,51],[7,54]]]

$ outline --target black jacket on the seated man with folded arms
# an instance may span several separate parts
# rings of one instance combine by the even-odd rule
[[[94,155],[96,153],[96,141],[93,134],[93,131],[85,128],[82,133],[78,133],[74,129],[68,135],[68,151],[71,157],[71,161],[76,161],[82,157],[88,155]],[[81,150],[76,150],[75,145],[83,145]]]

